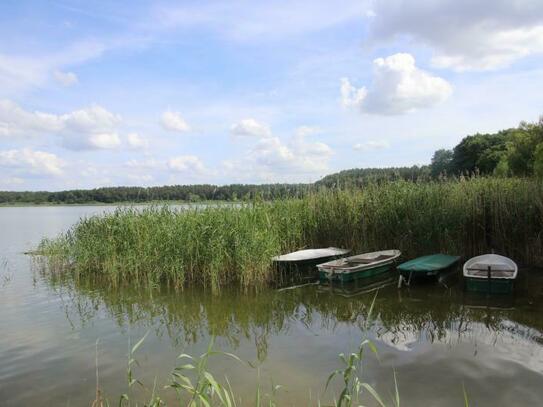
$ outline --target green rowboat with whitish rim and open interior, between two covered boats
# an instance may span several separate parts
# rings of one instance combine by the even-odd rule
[[[399,250],[381,250],[318,264],[319,278],[344,283],[373,277],[390,270],[401,254]]]

